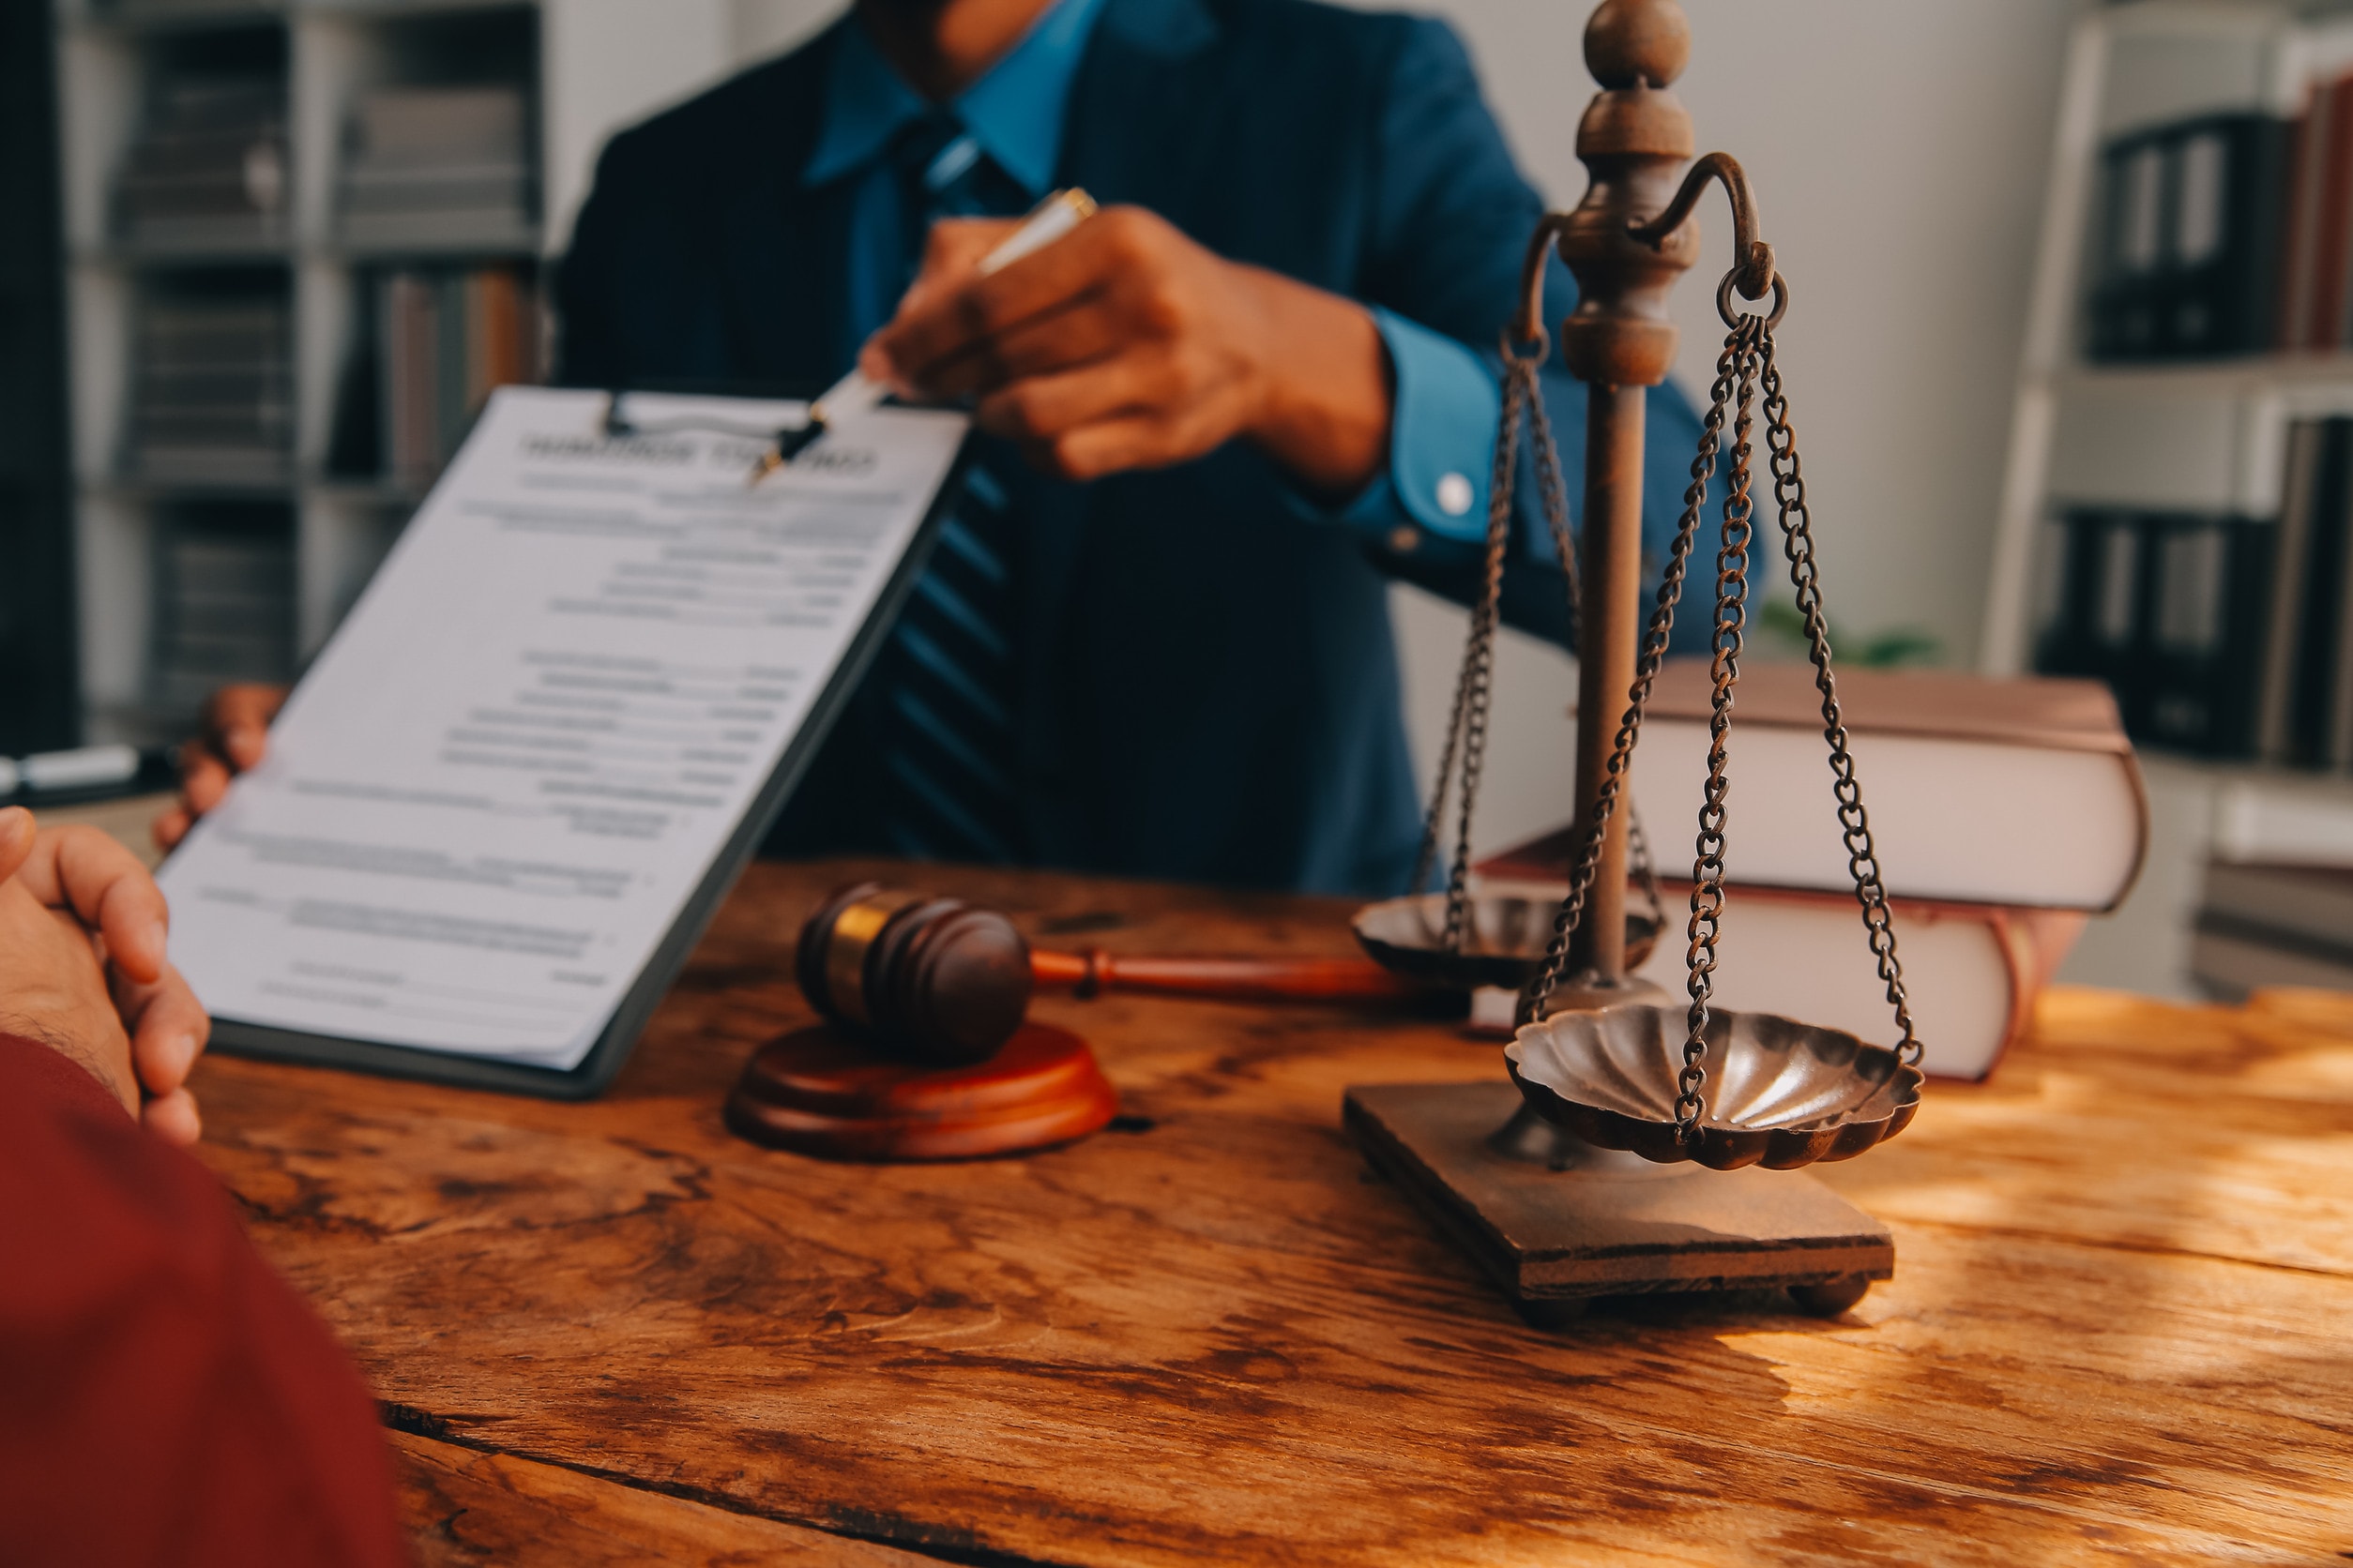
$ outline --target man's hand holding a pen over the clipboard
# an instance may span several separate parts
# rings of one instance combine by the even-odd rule
[[[1167,468],[1233,437],[1348,496],[1388,456],[1388,360],[1372,313],[1226,261],[1141,207],[1106,207],[1000,273],[1019,223],[932,226],[922,273],[861,369],[974,418],[1066,480]]]

